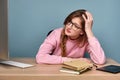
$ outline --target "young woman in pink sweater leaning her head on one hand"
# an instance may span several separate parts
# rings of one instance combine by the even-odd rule
[[[64,21],[64,27],[53,30],[40,46],[37,63],[62,64],[74,59],[87,60],[87,51],[96,64],[105,63],[104,51],[92,32],[93,17],[80,9],[72,12]]]

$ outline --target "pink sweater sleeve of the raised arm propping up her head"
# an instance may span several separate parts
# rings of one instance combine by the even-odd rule
[[[105,63],[106,57],[97,38],[93,37],[88,39],[87,52],[90,54],[90,58],[94,63],[96,64]]]

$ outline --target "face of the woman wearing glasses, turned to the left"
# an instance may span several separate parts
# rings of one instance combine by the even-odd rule
[[[81,20],[79,17],[75,17],[71,22],[65,25],[65,34],[70,39],[77,39],[80,35],[83,35]]]

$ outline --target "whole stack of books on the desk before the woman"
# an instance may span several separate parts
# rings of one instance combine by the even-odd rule
[[[73,74],[81,74],[88,70],[91,70],[93,67],[92,63],[88,63],[86,61],[81,60],[73,60],[69,62],[64,62],[60,72],[67,72]]]

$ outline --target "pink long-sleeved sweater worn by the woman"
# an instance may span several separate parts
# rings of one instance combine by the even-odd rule
[[[36,55],[37,63],[46,64],[61,64],[67,60],[66,57],[61,57],[60,35],[63,28],[55,29],[41,44]],[[88,39],[88,43],[80,48],[76,45],[75,40],[68,39],[66,43],[67,57],[83,58],[87,51],[94,63],[103,64],[105,62],[105,54],[100,46],[99,41],[93,37]],[[52,53],[52,55],[50,55]]]

